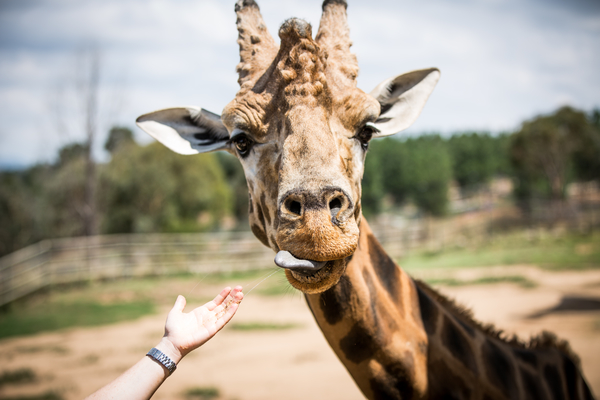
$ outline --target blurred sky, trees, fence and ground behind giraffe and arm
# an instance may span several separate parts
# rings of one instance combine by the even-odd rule
[[[259,4],[275,37],[291,16],[317,29],[320,1]],[[233,98],[233,7],[0,0],[0,398],[85,397],[158,341],[177,294],[199,304],[238,283],[236,323],[155,398],[362,398],[249,232],[239,162],[177,155],[134,124]],[[600,3],[355,0],[348,14],[363,90],[442,71],[417,123],[371,143],[376,235],[484,322],[568,339],[599,393]]]

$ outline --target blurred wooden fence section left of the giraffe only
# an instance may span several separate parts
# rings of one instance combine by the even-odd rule
[[[131,234],[44,240],[0,258],[0,305],[45,286],[178,272],[252,270],[273,251],[250,232]]]

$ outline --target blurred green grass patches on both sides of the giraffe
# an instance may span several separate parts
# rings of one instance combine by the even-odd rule
[[[407,271],[495,265],[537,265],[553,270],[600,268],[600,233],[587,236],[531,236],[526,233],[497,238],[478,248],[444,252],[415,252],[398,260]],[[272,275],[272,276],[270,276]],[[432,279],[437,285],[509,282],[533,287],[535,282],[514,275],[472,281]],[[130,321],[170,306],[178,294],[190,304],[203,304],[225,285],[242,284],[244,292],[260,296],[294,295],[282,270],[275,267],[248,272],[173,275],[122,279],[60,287],[30,296],[0,312],[0,339],[76,326],[98,326]],[[204,289],[204,290],[201,290]],[[239,325],[239,330],[288,329],[287,326]]]

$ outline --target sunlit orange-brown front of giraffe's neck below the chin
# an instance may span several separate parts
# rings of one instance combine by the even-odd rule
[[[358,248],[338,284],[306,295],[308,305],[368,398],[423,397],[427,335],[416,287],[385,253],[364,218],[360,231]]]

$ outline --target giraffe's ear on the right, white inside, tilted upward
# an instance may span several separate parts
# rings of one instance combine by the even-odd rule
[[[381,105],[374,125],[374,137],[389,136],[408,128],[417,120],[433,88],[440,79],[437,68],[408,72],[381,82],[371,96]]]

